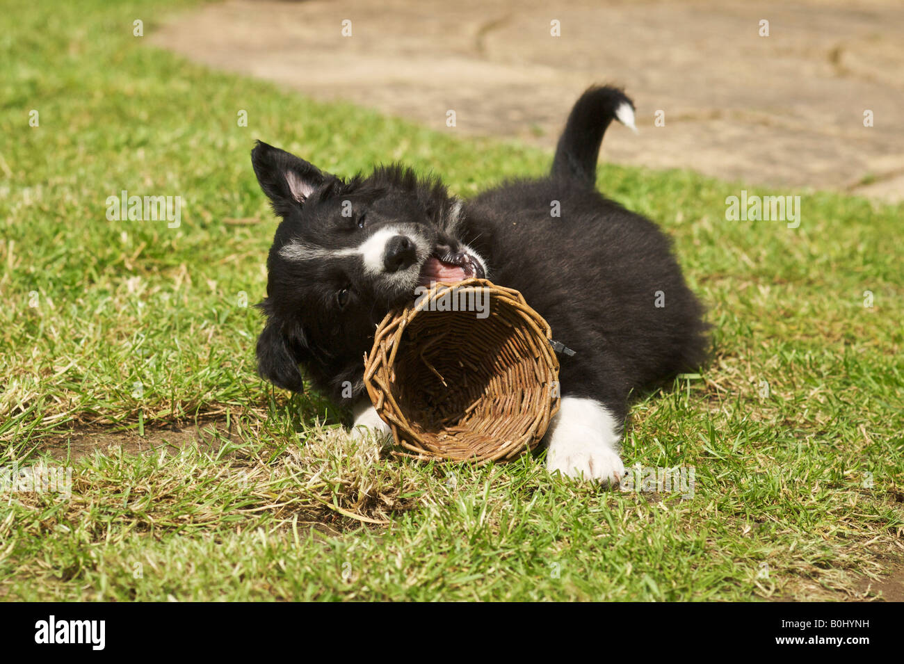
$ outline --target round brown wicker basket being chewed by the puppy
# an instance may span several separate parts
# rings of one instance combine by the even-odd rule
[[[436,311],[485,290],[489,316]],[[431,288],[388,313],[364,385],[396,442],[419,458],[509,461],[540,443],[559,410],[550,326],[523,296],[484,279]]]

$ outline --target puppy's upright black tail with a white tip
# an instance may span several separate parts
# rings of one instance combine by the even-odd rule
[[[578,180],[595,187],[599,145],[613,118],[636,133],[634,102],[620,89],[594,86],[582,94],[571,109],[559,139],[552,160],[552,177]]]

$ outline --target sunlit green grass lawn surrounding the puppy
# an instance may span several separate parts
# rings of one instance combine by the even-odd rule
[[[741,185],[600,168],[710,307],[711,366],[636,404],[625,445],[629,465],[693,467],[689,500],[541,458],[379,454],[255,375],[240,294],[264,295],[275,221],[253,139],[340,174],[403,159],[464,196],[550,155],[204,70],[132,36],[161,5],[4,3],[0,466],[68,463],[72,494],[0,493],[0,597],[843,599],[900,549],[904,208],[804,192],[798,229],[732,222]],[[182,225],[108,221],[123,189],[182,196]],[[106,445],[195,423],[181,450]],[[47,453],[86,436],[96,453]]]

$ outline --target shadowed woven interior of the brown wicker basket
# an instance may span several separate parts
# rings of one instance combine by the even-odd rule
[[[400,337],[393,397],[422,442],[447,454],[522,442],[549,398],[535,342],[511,317],[422,311]]]

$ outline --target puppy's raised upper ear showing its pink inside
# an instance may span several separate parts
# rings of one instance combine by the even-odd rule
[[[251,165],[273,210],[283,217],[297,210],[326,179],[314,164],[260,141],[251,150]]]

